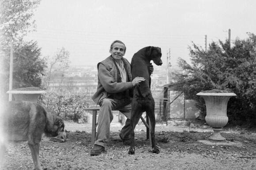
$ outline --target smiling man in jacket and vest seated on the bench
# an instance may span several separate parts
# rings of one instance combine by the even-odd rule
[[[109,142],[110,123],[113,120],[112,110],[118,110],[127,117],[120,131],[124,145],[130,145],[131,134],[131,92],[132,87],[145,79],[136,77],[132,80],[131,66],[123,58],[126,47],[123,42],[116,40],[110,46],[110,56],[98,63],[98,87],[92,99],[100,105],[98,115],[98,133],[95,137],[94,148],[90,155],[100,155],[105,151]],[[150,68],[153,72],[153,66]],[[129,91],[131,89],[131,92]]]

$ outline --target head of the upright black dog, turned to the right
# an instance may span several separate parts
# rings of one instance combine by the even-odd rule
[[[161,48],[159,47],[147,47],[146,48],[146,55],[150,58],[150,60],[153,60],[154,64],[156,65],[162,65],[162,53]]]

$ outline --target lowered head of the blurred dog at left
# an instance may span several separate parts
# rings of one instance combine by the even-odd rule
[[[45,127],[45,135],[47,137],[59,137],[66,141],[67,134],[64,131],[64,122],[63,120],[54,114],[47,113],[47,123]]]

